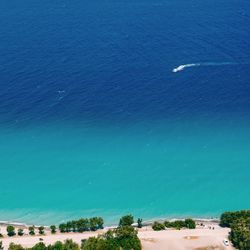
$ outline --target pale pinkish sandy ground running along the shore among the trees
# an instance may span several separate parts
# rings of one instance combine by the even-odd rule
[[[24,247],[32,247],[41,239],[45,244],[53,244],[56,241],[66,239],[72,239],[80,244],[82,239],[97,236],[108,230],[87,233],[57,233],[55,235],[51,235],[49,230],[46,230],[44,236],[29,236],[27,228],[24,228],[24,236],[8,237],[6,236],[6,226],[3,225],[0,228],[1,233],[4,234],[1,241],[6,250],[11,242],[21,244]],[[139,230],[138,236],[144,250],[232,250],[234,249],[232,246],[223,244],[223,239],[227,238],[229,230],[228,228],[219,227],[218,224],[211,223],[207,223],[203,227],[198,226],[196,229],[169,229],[164,231],[153,231],[151,227],[147,226]]]

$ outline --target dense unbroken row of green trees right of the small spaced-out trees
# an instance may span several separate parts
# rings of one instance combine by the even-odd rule
[[[103,218],[93,217],[90,219],[82,218],[79,220],[72,220],[66,223],[61,223],[59,225],[59,230],[61,233],[66,232],[85,232],[85,231],[96,231],[98,229],[103,229]]]

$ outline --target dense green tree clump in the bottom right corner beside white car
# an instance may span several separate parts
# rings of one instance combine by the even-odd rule
[[[229,239],[237,249],[250,249],[250,210],[225,212],[221,215],[220,225],[231,228]]]

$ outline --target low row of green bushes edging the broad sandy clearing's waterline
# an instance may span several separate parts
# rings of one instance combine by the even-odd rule
[[[164,221],[163,223],[160,223],[158,221],[155,221],[152,225],[152,229],[155,231],[161,231],[165,230],[166,228],[175,228],[175,229],[181,229],[181,228],[189,228],[194,229],[196,228],[195,221],[192,219],[185,219],[185,220],[175,220],[175,221]]]

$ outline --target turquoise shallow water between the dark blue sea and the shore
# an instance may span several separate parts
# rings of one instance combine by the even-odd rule
[[[1,129],[1,219],[112,224],[125,213],[209,218],[250,206],[246,124],[77,124]]]

